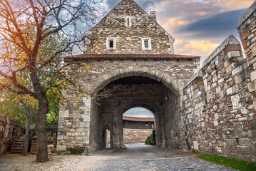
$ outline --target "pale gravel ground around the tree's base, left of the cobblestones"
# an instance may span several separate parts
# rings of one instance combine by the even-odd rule
[[[36,162],[36,155],[24,156],[0,156],[1,171],[72,171],[72,170],[92,170],[95,165],[103,160],[103,157],[85,155],[50,155],[51,161]]]

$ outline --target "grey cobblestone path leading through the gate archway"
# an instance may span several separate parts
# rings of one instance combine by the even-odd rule
[[[139,170],[233,170],[230,167],[198,159],[193,154],[143,144],[126,145],[111,158],[98,162],[93,171],[139,171]],[[99,151],[97,155],[106,155]]]

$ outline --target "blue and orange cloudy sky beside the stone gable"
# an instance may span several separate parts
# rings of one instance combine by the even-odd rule
[[[121,0],[104,0],[110,11]],[[230,34],[253,0],[135,0],[175,38],[176,54],[201,56],[201,64]]]

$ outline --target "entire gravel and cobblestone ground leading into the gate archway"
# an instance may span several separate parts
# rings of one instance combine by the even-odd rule
[[[126,150],[98,150],[93,156],[50,155],[51,161],[35,162],[36,155],[0,155],[0,171],[14,170],[232,170],[180,150],[128,144]]]

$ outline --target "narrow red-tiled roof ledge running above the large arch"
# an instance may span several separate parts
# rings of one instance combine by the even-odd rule
[[[64,58],[200,58],[200,56],[178,54],[81,54],[65,56]]]

